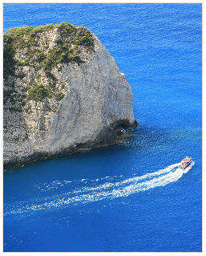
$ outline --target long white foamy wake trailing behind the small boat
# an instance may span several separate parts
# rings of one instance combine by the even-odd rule
[[[17,205],[9,205],[9,207],[6,207],[4,214],[25,213],[40,209],[54,209],[63,206],[67,207],[67,205],[71,203],[87,203],[103,199],[111,200],[117,197],[127,197],[133,193],[139,193],[140,191],[154,189],[158,186],[164,186],[178,181],[184,173],[188,173],[194,164],[195,163],[192,161],[191,165],[186,169],[180,169],[178,168],[180,163],[178,163],[154,173],[147,173],[140,177],[133,176],[123,181],[105,182],[107,178],[110,178],[109,181],[111,181],[111,177],[105,177],[101,179],[104,179],[104,181],[102,181],[104,183],[100,185],[97,185],[97,181],[99,181],[97,179],[96,183],[92,183],[92,185],[84,186],[66,193],[63,193],[63,190],[61,190],[60,193],[52,195],[51,197],[38,198],[37,203],[36,201],[34,203],[20,202]],[[114,177],[112,178],[115,179]],[[84,179],[81,181],[84,181]],[[91,181],[94,182],[94,180]],[[45,183],[42,186],[48,190],[52,188],[52,186],[55,189],[63,189],[63,186],[66,186],[69,190],[70,185],[71,181],[53,181],[50,184]],[[41,188],[41,186],[38,188]]]

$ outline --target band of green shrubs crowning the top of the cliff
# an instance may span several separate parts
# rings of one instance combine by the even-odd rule
[[[52,30],[57,30],[60,35],[59,39],[55,39],[55,47],[46,44],[43,47],[48,49],[46,55],[39,49],[39,41],[41,34]],[[47,41],[49,43],[49,40]],[[75,47],[74,47],[75,46]],[[74,26],[70,23],[63,22],[59,25],[49,24],[46,26],[22,26],[14,27],[6,30],[4,33],[4,55],[3,70],[4,78],[14,75],[14,66],[34,66],[39,63],[38,68],[43,67],[46,75],[50,75],[50,67],[58,63],[83,63],[83,59],[79,57],[81,47],[86,51],[94,51],[95,39],[91,31],[84,26]],[[36,56],[34,57],[34,47]],[[17,48],[26,48],[27,58],[18,62],[14,59]]]

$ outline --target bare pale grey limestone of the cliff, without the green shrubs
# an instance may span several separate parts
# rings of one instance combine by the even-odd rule
[[[59,37],[58,30],[50,33],[46,36],[53,47],[55,38]],[[58,66],[52,69],[58,81],[56,87],[64,95],[62,100],[54,97],[37,102],[28,100],[22,112],[12,112],[10,102],[5,104],[5,167],[114,144],[123,134],[122,127],[135,127],[131,86],[103,43],[93,37],[95,51],[83,55],[85,63],[63,63],[61,71]],[[24,59],[23,52],[19,51],[15,58]],[[15,89],[21,94],[37,71],[33,67],[19,70],[26,74],[23,79],[15,79]],[[16,68],[16,74],[19,70]],[[39,83],[46,84],[43,71],[38,73],[41,74]]]

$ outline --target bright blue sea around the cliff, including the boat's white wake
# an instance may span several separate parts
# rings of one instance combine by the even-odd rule
[[[139,125],[125,144],[6,170],[3,250],[202,251],[202,5],[3,4],[4,31],[60,22],[115,58]]]

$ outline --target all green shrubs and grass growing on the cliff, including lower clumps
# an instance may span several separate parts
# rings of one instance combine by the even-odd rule
[[[52,30],[57,30],[59,35],[59,38],[55,39],[55,47],[50,47],[50,39],[45,40],[46,42],[43,47],[46,51],[42,52],[39,43],[41,36],[44,33],[52,32]],[[25,66],[34,68],[36,78],[39,78],[38,71],[42,70],[49,84],[52,85],[51,87],[55,87],[58,79],[51,73],[53,67],[58,67],[58,71],[62,71],[62,63],[84,63],[84,59],[80,57],[81,51],[94,51],[95,48],[95,39],[90,30],[84,26],[74,26],[67,22],[60,23],[59,25],[41,25],[35,28],[26,25],[14,27],[6,30],[3,35],[3,43],[3,78],[5,79],[5,84],[9,87],[10,80],[23,79],[26,76],[22,71],[15,75],[17,67]],[[21,62],[14,59],[17,51],[24,52],[25,58]],[[56,94],[51,90],[51,87],[44,88],[42,84],[33,82],[30,83],[29,87],[26,87],[27,92],[24,91],[27,94],[28,100],[39,101],[45,97],[50,98],[53,95],[57,101],[63,98],[62,92],[57,91]],[[12,90],[4,93],[4,104],[8,102],[8,99],[10,99],[10,102],[14,102]],[[24,104],[25,102],[22,106]]]

